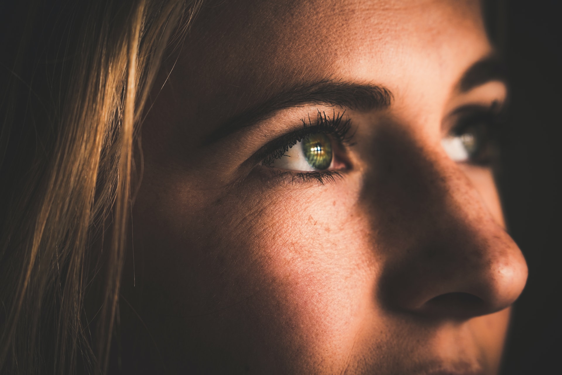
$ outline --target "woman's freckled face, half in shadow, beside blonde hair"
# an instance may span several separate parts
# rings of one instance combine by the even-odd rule
[[[176,55],[124,279],[167,368],[497,372],[527,266],[478,1],[211,1]]]

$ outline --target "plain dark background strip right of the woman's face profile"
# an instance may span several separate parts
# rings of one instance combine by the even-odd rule
[[[562,1],[498,0],[492,7],[491,34],[511,85],[498,184],[529,266],[502,374],[562,374]]]

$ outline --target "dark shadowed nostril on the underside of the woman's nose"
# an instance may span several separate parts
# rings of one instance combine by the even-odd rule
[[[422,310],[435,316],[465,319],[486,314],[486,303],[471,293],[454,292],[433,297]]]

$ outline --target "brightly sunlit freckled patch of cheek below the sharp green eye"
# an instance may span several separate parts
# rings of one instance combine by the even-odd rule
[[[335,186],[305,195],[273,200],[245,222],[256,241],[242,246],[252,249],[252,272],[262,279],[252,313],[277,337],[264,354],[289,352],[295,362],[326,368],[351,350],[373,301],[374,265],[356,199]]]

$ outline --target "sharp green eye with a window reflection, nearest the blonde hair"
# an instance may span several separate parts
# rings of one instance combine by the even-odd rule
[[[270,167],[293,171],[325,170],[332,165],[332,159],[332,139],[327,134],[318,133],[298,141]]]

